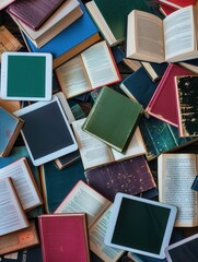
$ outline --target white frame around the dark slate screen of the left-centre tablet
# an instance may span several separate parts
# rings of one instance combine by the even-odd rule
[[[22,134],[22,136],[23,136],[24,143],[25,143],[25,145],[26,145],[26,148],[27,148],[27,151],[28,151],[28,154],[30,154],[30,156],[31,156],[31,159],[32,159],[32,162],[33,162],[33,164],[34,164],[35,166],[43,165],[43,164],[45,164],[45,163],[47,163],[47,162],[54,160],[54,159],[56,159],[56,158],[58,158],[58,157],[60,157],[60,156],[62,156],[62,155],[67,155],[67,154],[71,153],[71,152],[78,150],[78,144],[77,144],[74,134],[73,134],[73,132],[72,132],[72,130],[71,130],[71,127],[70,127],[70,124],[69,124],[69,122],[68,122],[68,119],[67,119],[66,114],[65,114],[65,111],[63,111],[63,109],[62,109],[62,106],[61,106],[61,104],[60,104],[60,100],[59,100],[59,98],[58,98],[56,95],[54,95],[54,96],[53,96],[53,99],[49,100],[49,102],[37,102],[37,103],[34,103],[34,104],[32,104],[31,106],[24,107],[24,108],[22,108],[22,109],[20,109],[20,110],[18,110],[18,111],[15,111],[14,115],[15,115],[16,117],[22,117],[23,115],[25,115],[25,114],[27,114],[27,112],[31,112],[31,111],[34,111],[34,110],[36,110],[36,109],[38,109],[38,108],[45,107],[46,105],[49,105],[50,103],[54,103],[54,102],[57,102],[57,104],[58,104],[58,106],[59,106],[60,112],[61,112],[61,115],[62,115],[62,118],[65,119],[65,122],[66,122],[66,124],[67,124],[67,128],[68,128],[68,131],[69,131],[69,133],[70,133],[70,136],[71,136],[71,139],[72,139],[72,141],[73,141],[73,144],[72,144],[72,145],[69,145],[69,146],[67,146],[67,147],[63,147],[63,148],[61,148],[61,150],[58,150],[58,151],[56,151],[56,152],[54,152],[54,153],[50,153],[50,154],[48,154],[48,155],[45,155],[45,156],[43,156],[43,157],[34,158],[34,156],[33,156],[33,154],[32,154],[32,152],[31,152],[31,147],[30,147],[30,145],[28,145],[28,141],[26,140],[26,138],[25,138],[25,135],[24,135],[24,133],[23,133],[23,129],[22,129],[22,130],[21,130],[21,134]],[[22,119],[23,119],[23,118],[22,118]]]

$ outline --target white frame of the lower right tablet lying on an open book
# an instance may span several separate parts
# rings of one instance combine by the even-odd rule
[[[118,214],[119,214],[119,209],[120,209],[123,199],[131,199],[131,200],[135,200],[135,201],[138,201],[138,202],[148,203],[150,205],[162,206],[162,207],[165,207],[165,209],[170,210],[170,217],[167,219],[166,230],[164,233],[164,238],[163,238],[163,241],[162,241],[162,245],[161,245],[161,250],[160,250],[159,254],[148,252],[148,251],[143,251],[143,250],[140,250],[140,249],[128,248],[128,247],[125,247],[125,246],[121,246],[121,245],[116,245],[116,243],[112,242],[112,238],[113,238],[113,235],[114,235],[114,229],[116,227],[116,222],[117,222],[117,217],[118,217]],[[167,247],[167,245],[170,242],[171,234],[172,234],[172,230],[173,230],[173,227],[174,227],[176,212],[177,212],[177,209],[173,205],[165,204],[165,203],[160,203],[160,202],[156,202],[156,201],[142,199],[142,198],[139,198],[139,196],[133,196],[133,195],[129,195],[129,194],[125,194],[125,193],[119,192],[119,193],[116,194],[116,198],[115,198],[115,201],[114,201],[114,204],[113,204],[113,212],[112,212],[112,215],[110,215],[110,218],[109,218],[109,224],[108,224],[106,235],[105,235],[105,245],[109,246],[112,248],[118,248],[118,249],[123,249],[123,250],[135,252],[135,253],[144,254],[144,255],[152,257],[152,258],[164,259],[165,258],[165,248]],[[127,214],[126,214],[126,216],[127,216]]]

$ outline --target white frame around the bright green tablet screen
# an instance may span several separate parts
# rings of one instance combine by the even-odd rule
[[[45,95],[44,97],[21,97],[8,95],[9,78],[9,57],[44,57],[46,60],[45,68]],[[33,76],[34,78],[34,76]],[[50,100],[53,97],[53,56],[49,52],[3,52],[1,57],[1,98],[9,100]]]

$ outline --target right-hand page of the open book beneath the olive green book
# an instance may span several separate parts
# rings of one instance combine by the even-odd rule
[[[115,160],[126,159],[132,156],[143,155],[147,153],[139,128],[137,128],[125,154],[112,148]]]

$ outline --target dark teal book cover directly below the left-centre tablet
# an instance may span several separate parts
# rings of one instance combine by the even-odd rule
[[[40,179],[45,210],[54,213],[79,180],[85,182],[82,160],[79,159],[62,170],[58,170],[53,162],[46,163],[40,166]]]

